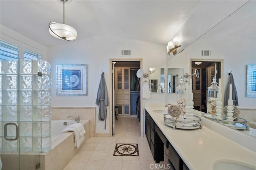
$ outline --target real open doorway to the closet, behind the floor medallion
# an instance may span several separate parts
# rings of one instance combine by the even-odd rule
[[[136,76],[141,67],[142,59],[110,59],[110,135],[115,133],[118,118],[137,117],[140,120],[140,136],[143,137],[141,80]]]

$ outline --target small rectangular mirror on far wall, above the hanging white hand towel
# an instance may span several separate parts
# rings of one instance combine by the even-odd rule
[[[165,93],[164,68],[149,68],[149,82],[152,93]]]

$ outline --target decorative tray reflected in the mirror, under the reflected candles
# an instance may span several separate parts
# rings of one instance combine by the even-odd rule
[[[227,119],[226,115],[221,115],[221,119],[217,119],[215,115],[211,115],[208,113],[204,113],[203,114],[204,117],[208,118],[208,119],[212,119],[215,121],[218,121],[218,123],[228,126],[230,128],[233,129],[238,129],[238,130],[250,130],[249,129],[249,122],[241,117],[236,117],[236,119],[234,119],[233,121],[230,121]]]

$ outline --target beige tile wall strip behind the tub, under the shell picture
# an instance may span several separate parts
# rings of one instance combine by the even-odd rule
[[[52,120],[74,120],[68,116],[80,116],[80,120],[90,120],[90,137],[96,137],[95,107],[52,107]],[[86,131],[87,132],[87,131]]]

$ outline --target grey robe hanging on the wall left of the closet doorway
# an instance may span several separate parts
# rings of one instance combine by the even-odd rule
[[[99,122],[105,120],[105,129],[106,129],[106,119],[107,119],[107,107],[108,106],[108,89],[104,79],[104,72],[101,74],[100,85],[98,88],[96,105],[100,106],[99,108]]]

